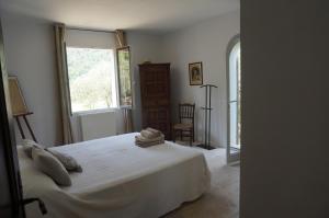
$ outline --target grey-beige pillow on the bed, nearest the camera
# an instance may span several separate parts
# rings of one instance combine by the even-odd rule
[[[34,165],[50,176],[58,185],[71,185],[71,179],[65,167],[52,153],[44,149],[33,147],[32,159]]]

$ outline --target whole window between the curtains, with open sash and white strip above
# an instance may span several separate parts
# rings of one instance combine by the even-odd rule
[[[65,36],[71,113],[132,106],[131,50],[115,34],[68,28]]]

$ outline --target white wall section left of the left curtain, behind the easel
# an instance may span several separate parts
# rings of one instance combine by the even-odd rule
[[[53,28],[36,20],[3,12],[1,19],[8,72],[19,77],[29,110],[34,112],[29,116],[34,134],[46,146],[59,144],[60,108]],[[20,142],[18,128],[15,134]]]

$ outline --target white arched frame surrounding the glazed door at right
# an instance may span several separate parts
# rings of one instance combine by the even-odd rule
[[[237,153],[231,154],[230,153],[230,116],[229,116],[229,56],[230,56],[230,51],[234,48],[234,46],[240,42],[240,34],[235,35],[234,37],[231,37],[231,39],[228,42],[227,48],[226,48],[226,112],[227,112],[227,145],[226,145],[226,161],[227,163],[231,163],[231,162],[236,162],[240,160],[240,149],[237,149]]]

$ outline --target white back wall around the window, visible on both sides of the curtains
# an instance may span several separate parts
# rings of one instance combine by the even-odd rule
[[[7,67],[19,81],[29,108],[29,117],[36,138],[45,146],[61,144],[59,93],[57,88],[54,31],[50,23],[16,16],[1,11]],[[128,32],[134,68],[134,123],[140,129],[139,76],[137,65],[145,60],[157,61],[160,38],[155,35]],[[72,118],[77,141],[81,129],[77,116]],[[117,111],[117,133],[123,133],[122,113]],[[26,129],[25,129],[26,130]],[[27,133],[27,131],[25,131]],[[18,128],[16,140],[21,141]]]

